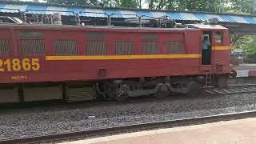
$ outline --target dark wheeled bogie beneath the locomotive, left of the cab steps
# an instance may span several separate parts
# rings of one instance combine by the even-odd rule
[[[144,79],[141,82],[141,79]],[[189,80],[188,80],[189,79]],[[166,98],[170,93],[189,94],[200,93],[202,84],[197,77],[182,78],[134,78],[113,80],[103,83],[104,93],[117,101],[124,101],[128,97],[154,95],[154,98]]]

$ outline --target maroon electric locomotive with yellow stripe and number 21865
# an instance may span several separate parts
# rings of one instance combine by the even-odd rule
[[[1,25],[0,33],[2,102],[193,95],[230,77],[229,31],[218,25]]]

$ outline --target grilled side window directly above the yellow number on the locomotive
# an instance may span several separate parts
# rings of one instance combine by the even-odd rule
[[[45,55],[45,41],[43,39],[21,39],[22,55]]]

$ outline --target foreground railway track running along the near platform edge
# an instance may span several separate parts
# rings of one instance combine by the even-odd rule
[[[102,137],[106,135],[129,133],[129,132],[135,132],[135,131],[141,131],[141,130],[154,130],[159,128],[167,128],[167,127],[170,128],[170,127],[177,127],[177,126],[191,126],[191,125],[204,124],[204,123],[210,123],[210,122],[221,122],[221,121],[230,121],[234,119],[255,118],[255,117],[256,117],[256,111],[246,111],[242,113],[218,114],[218,115],[211,115],[211,116],[199,117],[199,118],[184,118],[184,119],[162,121],[162,122],[150,122],[150,123],[141,123],[136,125],[107,127],[104,129],[76,131],[72,133],[50,134],[50,135],[43,135],[38,137],[9,139],[9,140],[0,141],[0,143],[69,142],[69,141],[75,141],[80,139]]]

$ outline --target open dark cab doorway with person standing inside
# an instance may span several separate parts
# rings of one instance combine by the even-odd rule
[[[202,34],[202,65],[211,65],[212,32],[204,31]]]

